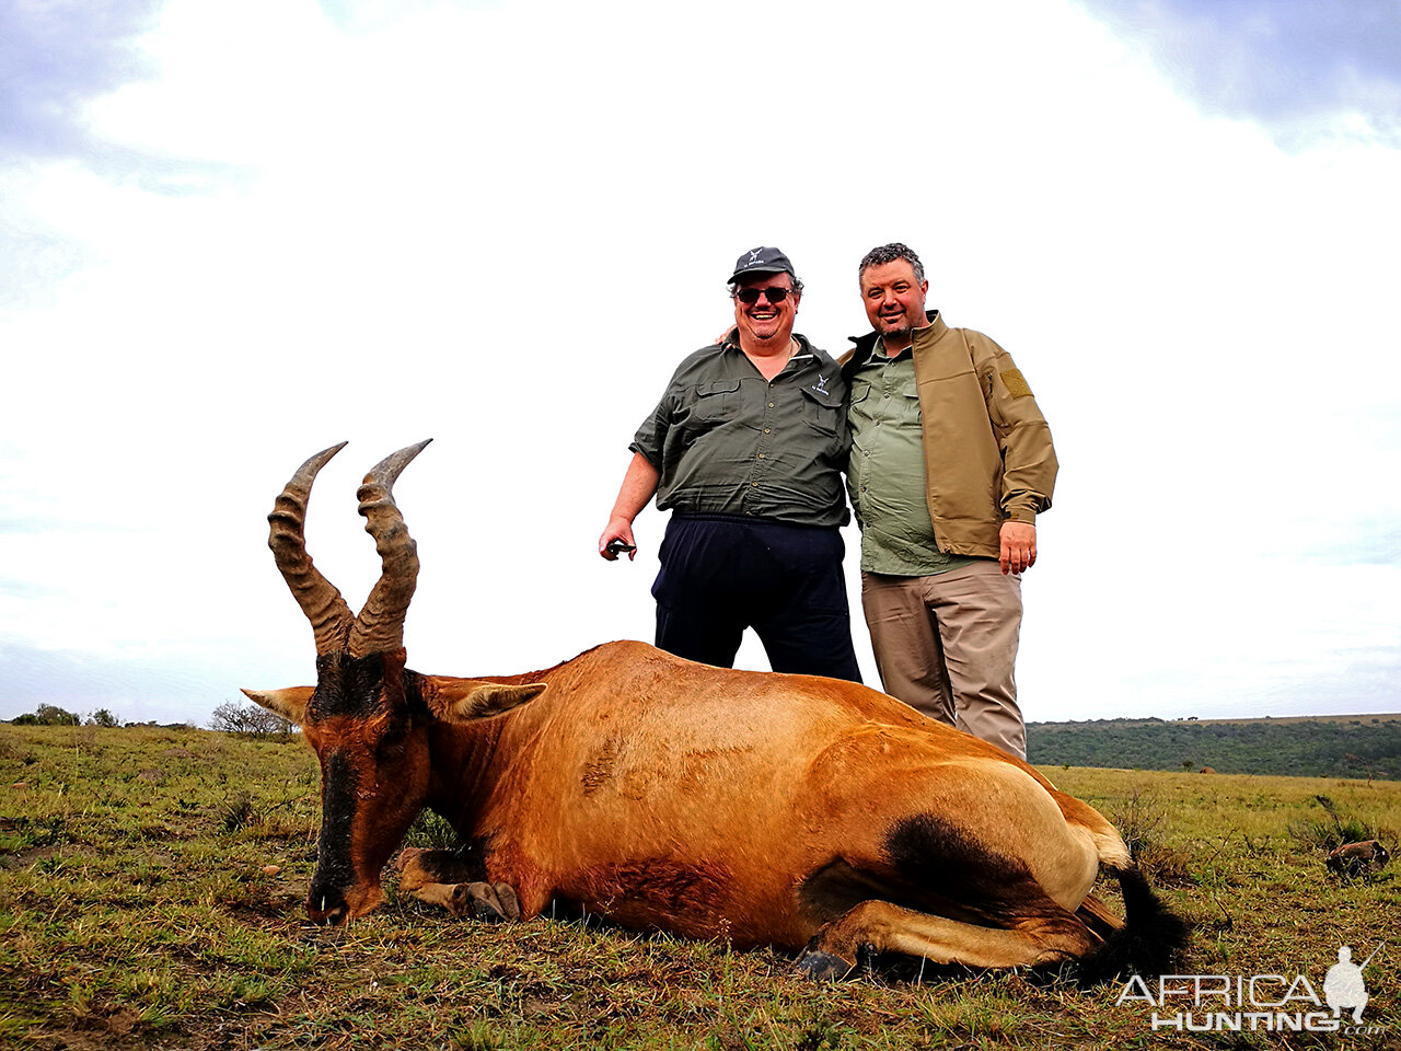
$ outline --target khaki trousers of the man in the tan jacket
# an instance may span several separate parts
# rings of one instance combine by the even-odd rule
[[[862,573],[862,607],[885,692],[1017,758],[1021,577],[995,559],[933,576]]]

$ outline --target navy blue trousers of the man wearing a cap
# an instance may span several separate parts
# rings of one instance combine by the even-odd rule
[[[775,671],[860,682],[845,552],[835,527],[672,514],[651,586],[657,647],[729,668],[754,628]]]

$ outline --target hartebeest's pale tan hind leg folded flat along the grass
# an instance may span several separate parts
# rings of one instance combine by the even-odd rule
[[[845,978],[864,946],[968,967],[1021,967],[1087,954],[1098,939],[1073,915],[1061,912],[1002,929],[916,912],[888,901],[863,901],[818,930],[797,966],[810,978]]]

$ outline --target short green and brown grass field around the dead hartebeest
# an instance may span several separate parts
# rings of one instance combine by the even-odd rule
[[[1303,974],[1321,998],[1339,944],[1360,963],[1387,942],[1365,971],[1373,1031],[1154,1031],[1119,984],[908,961],[814,985],[772,952],[455,921],[392,879],[374,915],[314,928],[318,775],[300,741],[0,724],[0,1047],[1401,1047],[1401,880],[1323,865],[1339,830],[1395,852],[1401,783],[1045,772],[1115,820],[1196,922],[1187,971]],[[444,834],[420,820],[410,841]]]

